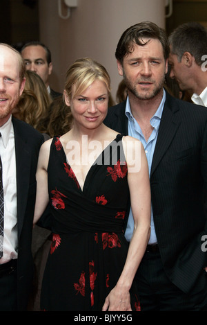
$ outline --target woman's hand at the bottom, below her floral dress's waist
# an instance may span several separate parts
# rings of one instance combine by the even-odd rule
[[[106,297],[102,311],[132,311],[129,291],[120,290],[115,286]]]

